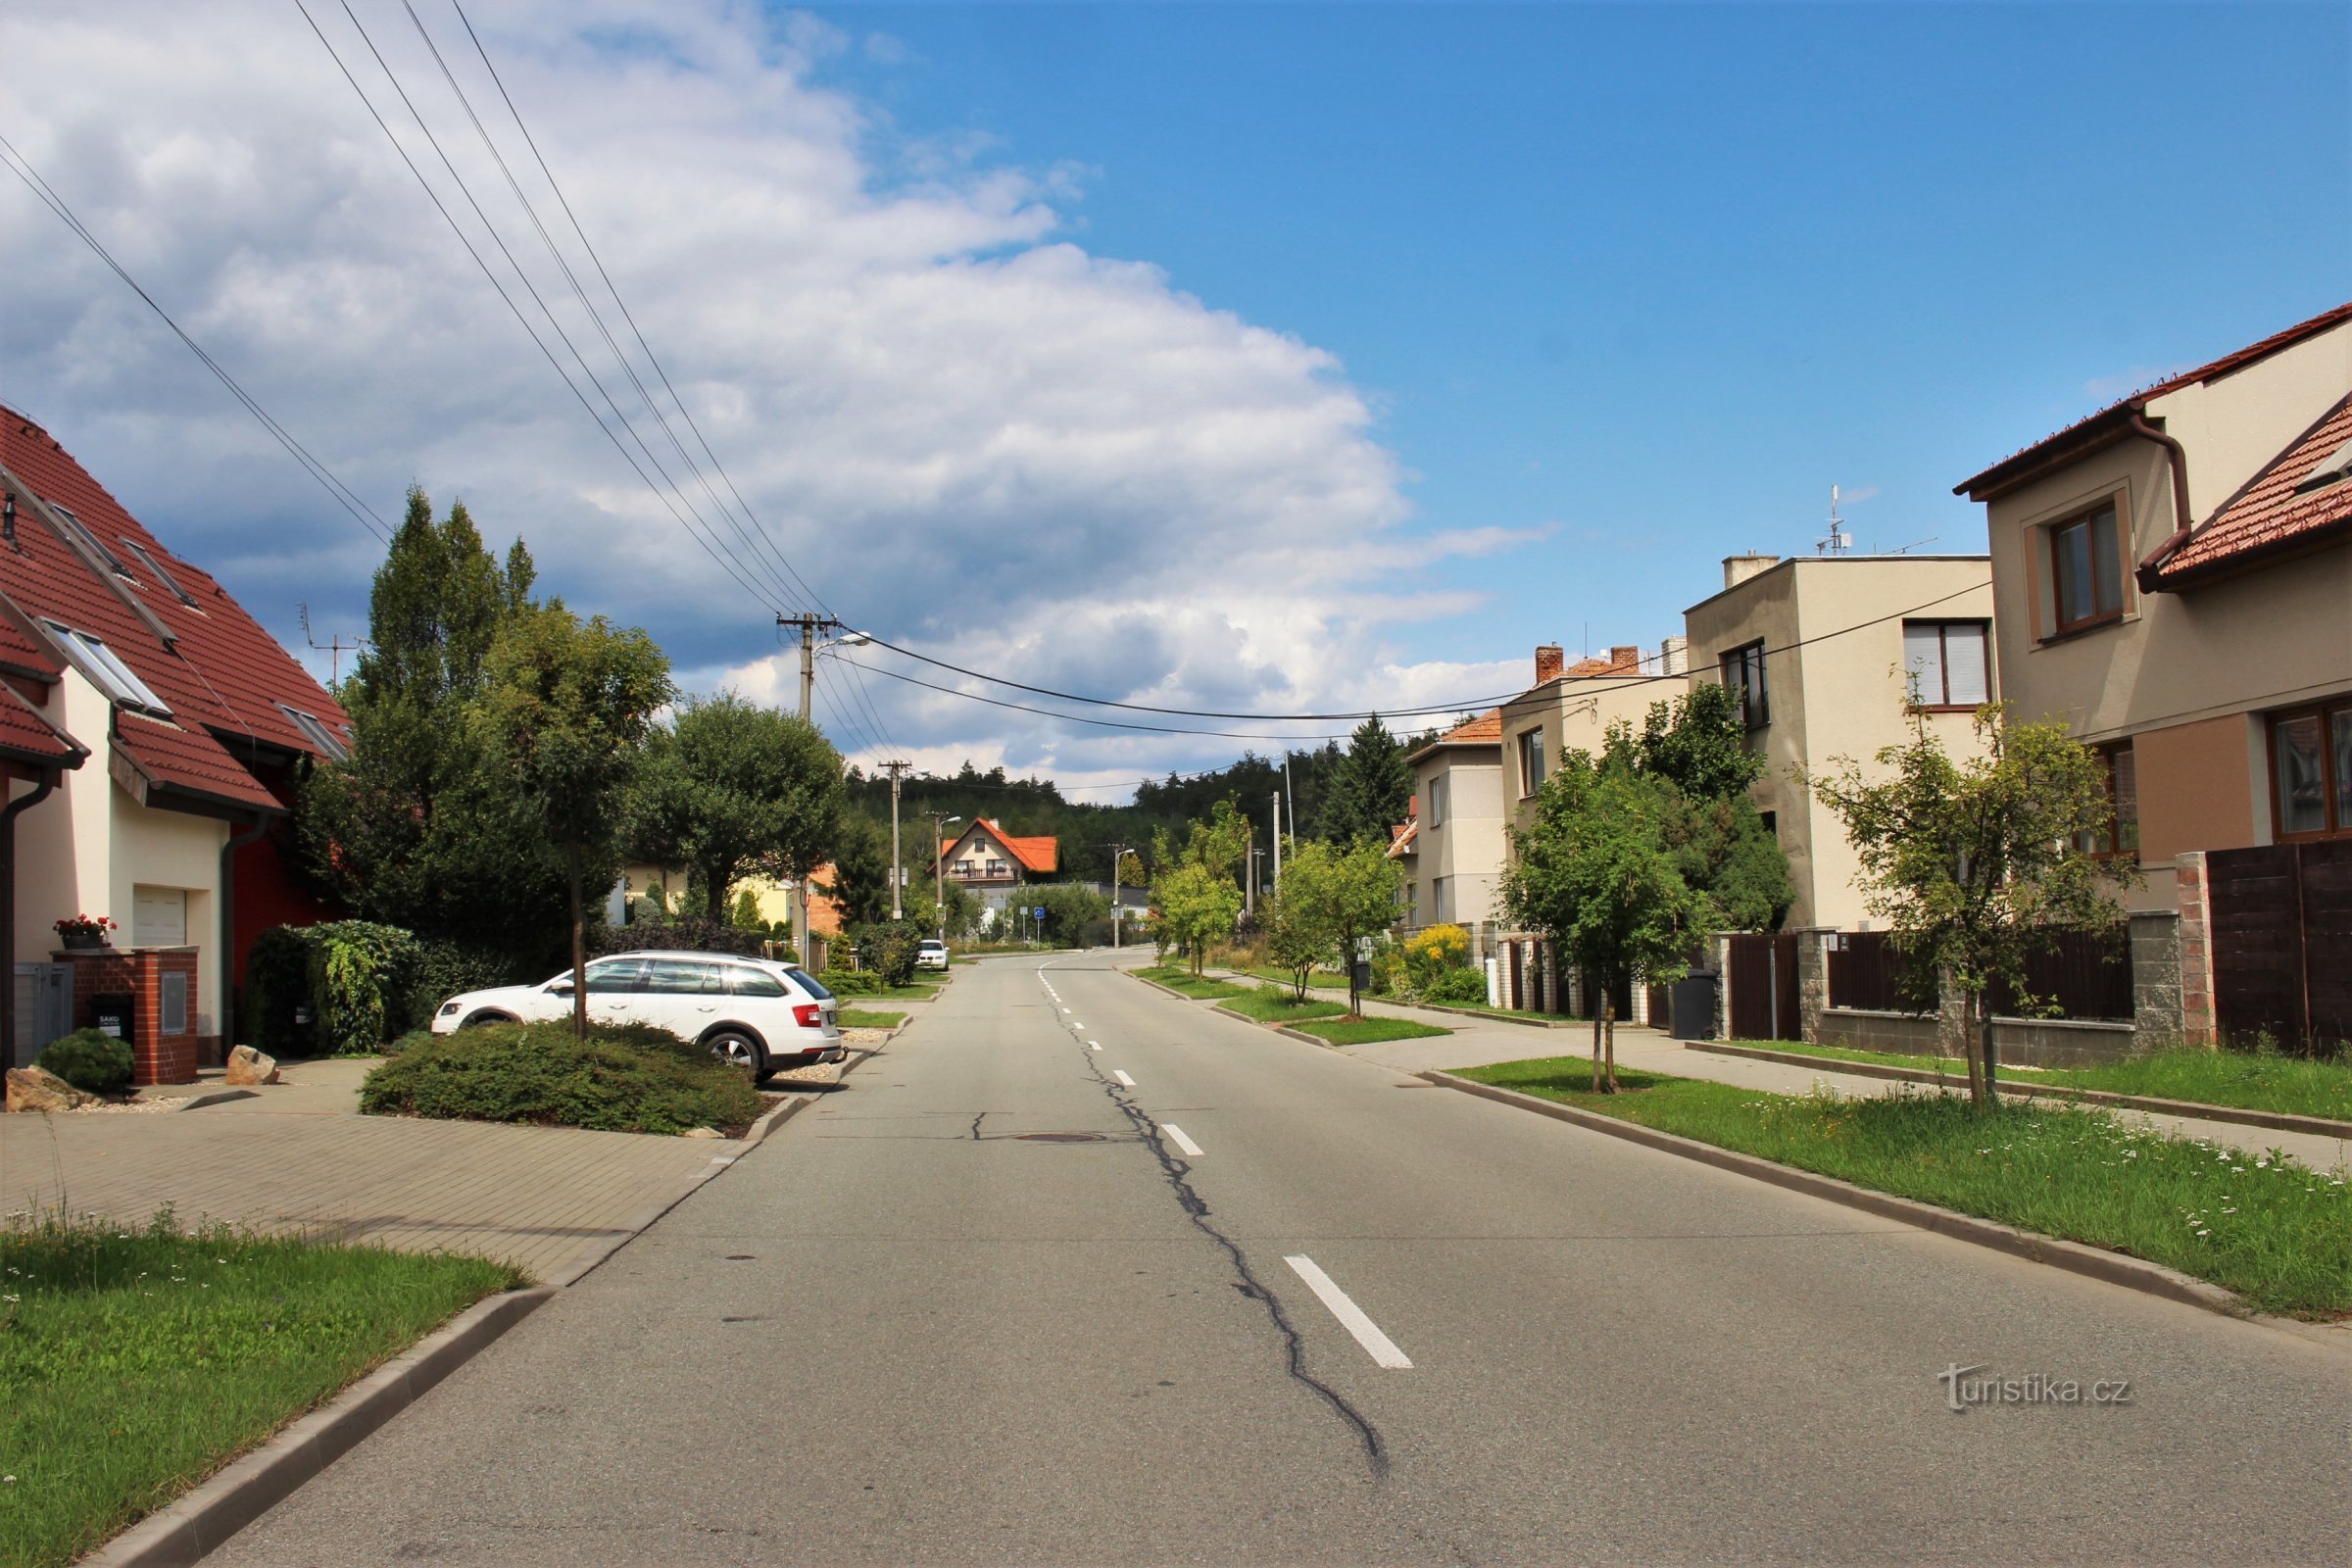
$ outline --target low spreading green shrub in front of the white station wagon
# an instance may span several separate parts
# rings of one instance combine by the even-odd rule
[[[524,1121],[602,1133],[741,1126],[760,1093],[710,1051],[652,1025],[499,1023],[435,1034],[367,1074],[360,1112]]]

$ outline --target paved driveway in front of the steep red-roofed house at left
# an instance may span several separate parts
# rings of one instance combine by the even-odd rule
[[[0,1211],[228,1220],[562,1279],[727,1171],[748,1143],[358,1117],[367,1063],[294,1063],[252,1100],[0,1117]]]

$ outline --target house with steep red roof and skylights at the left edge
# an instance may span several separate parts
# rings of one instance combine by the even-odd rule
[[[289,875],[285,825],[303,769],[348,743],[209,571],[0,407],[9,1065],[99,1020],[141,1081],[219,1060],[252,938],[334,917]],[[66,950],[75,914],[111,919],[108,945]]]

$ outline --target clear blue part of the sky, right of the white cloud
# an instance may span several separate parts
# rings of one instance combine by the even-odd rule
[[[828,66],[884,143],[1077,165],[1089,249],[1341,355],[1428,524],[1555,527],[1435,567],[1498,651],[1653,644],[1832,482],[1983,548],[1957,480],[2352,296],[2347,7],[818,14],[903,45]]]

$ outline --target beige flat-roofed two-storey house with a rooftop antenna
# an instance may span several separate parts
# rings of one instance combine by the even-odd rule
[[[1915,710],[1955,757],[1978,752],[1973,715],[2002,689],[1992,614],[1983,555],[1733,555],[1684,611],[1691,684],[1740,693],[1766,764],[1750,797],[1788,853],[1788,926],[1870,929],[1853,846],[1804,780],[1867,769]]]

